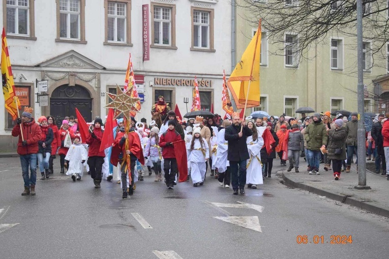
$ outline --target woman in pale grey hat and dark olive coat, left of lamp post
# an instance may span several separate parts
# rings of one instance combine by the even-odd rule
[[[340,179],[340,172],[342,169],[342,161],[346,159],[346,128],[343,126],[343,120],[335,120],[335,129],[327,129],[330,140],[327,145],[328,159],[332,159],[335,180]]]

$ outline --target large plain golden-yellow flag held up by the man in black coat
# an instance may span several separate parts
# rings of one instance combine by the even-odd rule
[[[248,93],[247,107],[255,107],[260,104],[260,89],[259,89],[259,62],[261,53],[261,22],[259,21],[258,30],[247,46],[242,55],[241,60],[236,64],[232,71],[227,85],[232,97],[234,98],[236,107],[244,109]]]

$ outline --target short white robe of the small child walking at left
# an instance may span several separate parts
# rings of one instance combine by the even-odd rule
[[[82,176],[84,171],[84,165],[82,164],[82,160],[85,160],[85,164],[87,157],[88,154],[86,153],[86,150],[82,146],[82,144],[72,144],[72,146],[70,146],[68,150],[68,154],[66,154],[65,157],[65,160],[70,161],[69,169],[66,172],[66,175],[71,176],[73,174],[79,174],[80,176]]]

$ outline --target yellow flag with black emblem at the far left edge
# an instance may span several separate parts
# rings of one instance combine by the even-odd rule
[[[18,118],[18,109],[20,107],[19,98],[16,96],[14,77],[11,69],[10,54],[8,52],[6,31],[3,28],[2,33],[2,79],[3,79],[3,94],[6,110],[11,114],[12,120]],[[16,98],[16,101],[15,101]]]

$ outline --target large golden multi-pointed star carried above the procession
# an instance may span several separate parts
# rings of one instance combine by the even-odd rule
[[[130,111],[139,112],[139,110],[134,106],[140,98],[132,96],[133,86],[128,88],[127,92],[123,92],[122,89],[116,84],[116,94],[107,93],[109,98],[112,99],[105,108],[115,109],[115,118],[123,112],[124,116],[127,119],[130,119]]]

